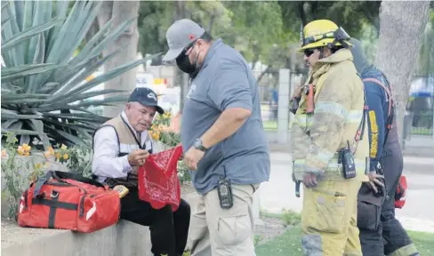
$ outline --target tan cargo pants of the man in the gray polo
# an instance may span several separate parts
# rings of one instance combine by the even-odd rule
[[[192,256],[254,256],[253,193],[255,185],[232,185],[234,205],[221,209],[217,188],[198,195],[191,205],[189,247]]]

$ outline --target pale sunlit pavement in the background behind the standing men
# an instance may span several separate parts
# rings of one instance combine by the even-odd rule
[[[260,204],[268,212],[282,208],[301,211],[291,178],[291,155],[271,153],[271,176],[260,189]],[[409,182],[406,205],[397,209],[398,219],[407,229],[434,232],[434,158],[405,156],[404,173]],[[301,188],[302,194],[302,188]]]

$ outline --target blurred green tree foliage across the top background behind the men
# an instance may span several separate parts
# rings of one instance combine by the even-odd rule
[[[141,2],[139,50],[143,54],[167,51],[165,31],[176,19],[176,4]],[[234,46],[252,63],[252,68],[261,62],[269,67],[270,73],[276,73],[277,68],[295,68],[295,72],[302,73],[304,60],[301,54],[294,54],[294,49],[299,44],[301,26],[317,19],[333,20],[350,36],[361,40],[368,59],[374,62],[381,4],[381,1],[184,1],[180,17],[195,20],[214,38],[220,37]],[[430,14],[430,23],[434,24],[434,12]],[[427,61],[432,61],[431,29],[424,35],[419,60],[419,66],[425,69]]]

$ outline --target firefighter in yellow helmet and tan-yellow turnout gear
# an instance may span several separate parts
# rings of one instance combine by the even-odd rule
[[[369,142],[350,36],[330,20],[310,22],[301,36],[311,69],[292,129],[293,180],[304,186],[302,249],[304,255],[362,255],[357,196],[367,181]]]

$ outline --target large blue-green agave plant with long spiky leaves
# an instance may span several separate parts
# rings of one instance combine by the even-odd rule
[[[87,144],[92,132],[108,118],[86,110],[122,102],[125,95],[90,98],[120,90],[90,91],[121,75],[150,56],[126,63],[90,81],[117,52],[103,56],[106,46],[133,20],[112,28],[109,20],[74,54],[100,10],[100,1],[2,1],[2,133],[19,134],[20,143]],[[36,140],[35,140],[36,139]]]

